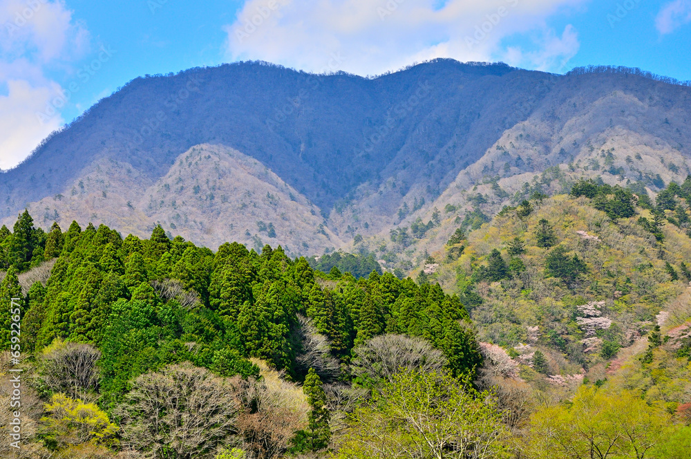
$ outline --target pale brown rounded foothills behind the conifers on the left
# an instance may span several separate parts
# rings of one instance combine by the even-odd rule
[[[307,254],[343,245],[323,225],[319,207],[276,174],[238,151],[209,144],[180,155],[155,182],[129,163],[100,160],[69,193],[29,210],[43,226],[97,221],[140,237],[160,224],[207,247],[231,240],[258,252],[271,243]]]

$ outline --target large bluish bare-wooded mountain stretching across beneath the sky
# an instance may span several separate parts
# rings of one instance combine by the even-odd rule
[[[621,169],[610,160],[600,173],[651,184],[657,174],[683,179],[690,96],[689,87],[627,73],[557,76],[448,59],[375,79],[310,75],[263,63],[138,78],[0,174],[0,217],[12,221],[30,207],[43,215],[45,221],[37,222],[43,226],[53,220],[66,225],[63,220],[74,214],[135,234],[163,223],[173,234],[210,244],[244,234],[250,245],[265,231],[257,222],[271,222],[278,234],[299,234],[292,239],[294,253],[297,247],[316,253],[343,246],[356,232],[388,232],[399,221],[401,204],[413,198],[424,198],[427,205],[418,212],[427,212],[450,189],[466,189],[486,176],[521,176],[581,157],[585,168],[586,157],[612,139],[631,158],[641,149],[645,160],[622,157]],[[267,194],[276,180],[290,189],[287,200],[301,203],[304,221],[314,220],[310,231],[282,218],[286,209],[268,210],[271,205],[252,227],[244,209],[229,207],[239,199],[228,183],[221,193],[226,202],[191,205],[189,198],[176,198],[196,186],[208,186],[216,196],[208,168],[239,167],[235,160],[220,160],[221,166],[207,160],[198,171],[176,176],[182,188],[169,183],[182,156],[209,148],[261,163],[274,180],[265,186]],[[104,172],[108,167],[117,174]],[[241,180],[247,186],[265,180],[249,175],[254,178]],[[151,205],[153,194],[157,205]],[[93,199],[89,215],[77,212],[85,196]],[[199,219],[188,215],[187,222],[176,223],[178,212],[170,206],[180,198],[200,211]],[[217,228],[211,237],[205,218],[212,209],[229,220],[237,216],[240,236],[233,223],[232,231]],[[326,228],[317,225],[317,232],[329,238],[310,245],[317,221]]]

